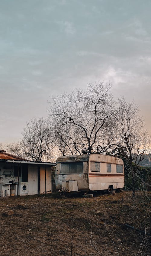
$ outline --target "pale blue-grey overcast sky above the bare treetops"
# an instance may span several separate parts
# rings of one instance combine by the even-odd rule
[[[51,94],[112,83],[151,130],[150,0],[1,0],[0,142],[47,117]]]

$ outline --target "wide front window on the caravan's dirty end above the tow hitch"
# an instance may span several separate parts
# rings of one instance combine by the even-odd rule
[[[82,173],[83,162],[61,163],[60,173]]]

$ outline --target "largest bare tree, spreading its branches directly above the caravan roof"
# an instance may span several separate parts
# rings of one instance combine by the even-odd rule
[[[106,152],[114,144],[114,101],[111,85],[89,84],[61,96],[52,96],[56,145],[63,155]]]

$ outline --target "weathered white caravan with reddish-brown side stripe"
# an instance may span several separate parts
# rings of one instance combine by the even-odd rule
[[[58,157],[55,180],[56,189],[66,192],[119,189],[124,187],[124,163],[100,154]]]

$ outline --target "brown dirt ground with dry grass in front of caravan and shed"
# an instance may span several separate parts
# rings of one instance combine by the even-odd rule
[[[150,193],[94,196],[0,198],[0,255],[150,255]]]

